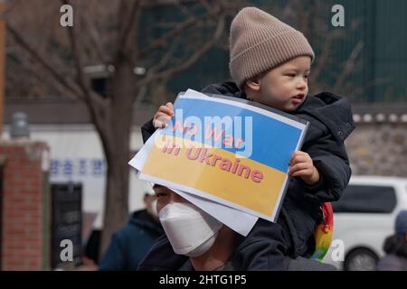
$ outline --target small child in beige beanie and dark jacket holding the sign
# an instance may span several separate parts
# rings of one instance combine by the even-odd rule
[[[230,36],[234,82],[203,92],[246,98],[283,110],[310,123],[302,151],[289,161],[289,188],[277,223],[259,219],[241,242],[241,270],[284,270],[285,256],[310,256],[321,204],[338,200],[351,169],[344,140],[355,125],[345,98],[331,93],[308,96],[314,51],[304,35],[274,16],[246,7],[235,16]],[[173,116],[171,103],[159,107],[142,127],[146,139]]]

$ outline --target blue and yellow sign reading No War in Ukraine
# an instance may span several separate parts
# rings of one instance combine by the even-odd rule
[[[151,182],[274,220],[308,123],[227,98],[179,96],[141,172]]]

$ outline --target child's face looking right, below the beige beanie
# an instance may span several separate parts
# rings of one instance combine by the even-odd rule
[[[310,67],[308,56],[285,62],[261,76],[249,97],[269,107],[293,111],[307,97]]]

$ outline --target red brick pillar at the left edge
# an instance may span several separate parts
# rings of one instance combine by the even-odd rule
[[[49,268],[48,155],[44,143],[0,141],[2,270]]]

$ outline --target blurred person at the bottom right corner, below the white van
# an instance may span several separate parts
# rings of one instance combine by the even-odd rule
[[[385,239],[386,253],[377,264],[378,271],[407,271],[407,210],[402,210],[395,221],[395,234]]]

